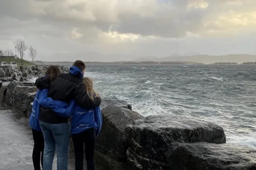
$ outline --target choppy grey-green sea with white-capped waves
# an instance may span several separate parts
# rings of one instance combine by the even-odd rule
[[[256,65],[87,65],[85,76],[143,116],[213,122],[228,143],[256,148]]]

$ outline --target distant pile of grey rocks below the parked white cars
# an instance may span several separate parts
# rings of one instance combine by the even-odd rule
[[[0,81],[1,82],[23,82],[29,81],[32,77],[45,75],[49,65],[33,65],[33,66],[0,66]],[[62,73],[69,71],[68,67],[59,66]]]

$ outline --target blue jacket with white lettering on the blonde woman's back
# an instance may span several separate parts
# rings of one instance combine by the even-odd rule
[[[79,105],[75,106],[73,112],[73,117],[71,120],[71,133],[82,133],[83,131],[95,128],[96,137],[100,133],[102,126],[102,114],[100,107],[95,107],[94,109],[82,108]]]

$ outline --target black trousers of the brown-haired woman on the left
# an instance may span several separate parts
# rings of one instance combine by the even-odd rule
[[[34,148],[32,154],[32,160],[35,170],[40,170],[40,160],[43,167],[43,155],[44,155],[44,136],[43,132],[32,129],[32,135],[34,139]]]

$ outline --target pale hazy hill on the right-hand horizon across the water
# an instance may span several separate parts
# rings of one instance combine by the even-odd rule
[[[168,56],[163,58],[150,58],[150,59],[137,59],[134,61],[187,61],[187,62],[198,62],[198,63],[243,63],[243,62],[255,62],[256,55],[250,54],[229,54],[223,56],[209,56],[209,55],[194,55],[194,56]]]

